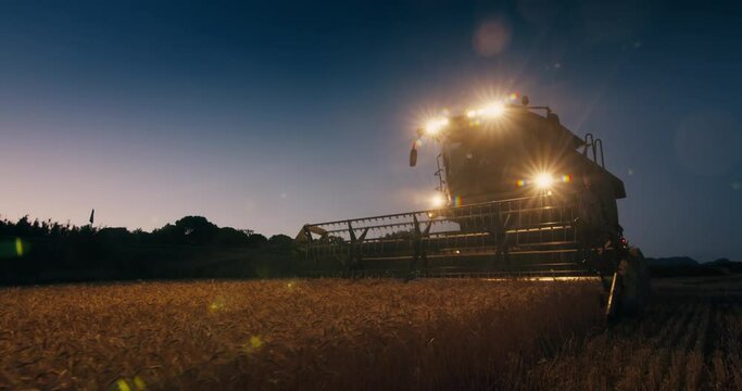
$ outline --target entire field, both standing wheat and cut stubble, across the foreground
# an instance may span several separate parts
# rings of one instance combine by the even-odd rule
[[[742,389],[742,283],[190,281],[0,290],[0,390]]]

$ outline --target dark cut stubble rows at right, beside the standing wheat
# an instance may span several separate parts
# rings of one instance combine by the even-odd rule
[[[565,343],[531,389],[742,390],[742,277],[655,280],[643,316]]]

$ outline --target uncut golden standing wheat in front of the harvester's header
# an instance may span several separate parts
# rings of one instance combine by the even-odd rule
[[[0,389],[506,384],[600,323],[591,285],[148,282],[3,289]]]

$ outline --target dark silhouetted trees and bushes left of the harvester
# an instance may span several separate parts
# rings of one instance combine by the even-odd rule
[[[266,278],[297,273],[293,240],[186,216],[154,229],[0,219],[0,285],[173,278]]]

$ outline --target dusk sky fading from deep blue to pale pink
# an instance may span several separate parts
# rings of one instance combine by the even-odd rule
[[[0,0],[0,214],[264,235],[419,210],[428,113],[517,91],[604,141],[627,238],[742,260],[742,10]]]

